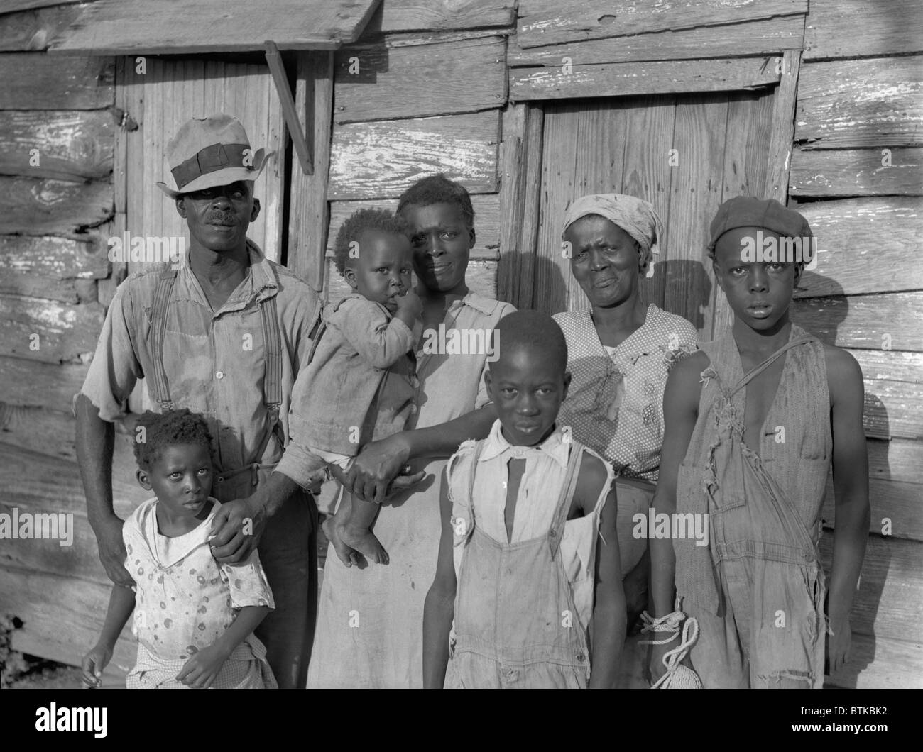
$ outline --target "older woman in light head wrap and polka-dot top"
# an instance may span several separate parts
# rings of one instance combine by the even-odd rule
[[[647,606],[647,540],[632,535],[653,499],[671,364],[698,347],[681,316],[641,304],[641,276],[653,275],[663,223],[651,204],[623,194],[574,201],[564,217],[570,273],[590,309],[557,314],[572,377],[558,420],[617,472],[618,545],[629,625]],[[645,524],[644,531],[648,530]],[[643,559],[643,561],[642,561]]]

